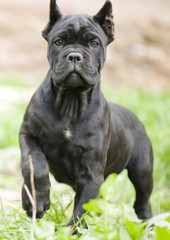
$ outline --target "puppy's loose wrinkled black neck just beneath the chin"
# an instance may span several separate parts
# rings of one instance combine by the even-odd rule
[[[97,106],[100,99],[100,82],[97,86],[87,91],[80,91],[78,88],[57,88],[54,85],[52,88],[57,115],[61,120],[67,120],[73,123],[84,116],[88,105],[91,104],[92,101],[93,104],[96,102]]]

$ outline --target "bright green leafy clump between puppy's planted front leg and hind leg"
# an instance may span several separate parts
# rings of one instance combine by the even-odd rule
[[[87,236],[96,232],[100,234],[95,239],[123,240],[142,239],[146,235],[146,224],[138,220],[133,208],[116,198],[118,178],[111,174],[100,188],[101,198],[90,200],[84,205],[85,210],[90,212],[91,224],[94,226],[92,232],[89,229]]]

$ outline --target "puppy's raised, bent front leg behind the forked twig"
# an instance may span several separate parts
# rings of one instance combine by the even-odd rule
[[[21,148],[21,168],[24,177],[24,184],[27,185],[30,192],[30,158],[32,158],[34,168],[34,184],[36,190],[36,217],[41,218],[50,207],[49,193],[50,193],[50,181],[49,181],[49,168],[42,152],[38,141],[26,134],[20,134],[20,148]],[[27,193],[22,188],[22,204],[23,208],[27,211],[28,216],[32,216],[32,205],[29,201]]]

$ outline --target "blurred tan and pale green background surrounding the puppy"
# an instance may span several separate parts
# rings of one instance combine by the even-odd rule
[[[57,2],[65,14],[94,15],[104,4],[104,0]],[[108,47],[103,90],[108,99],[134,110],[149,132],[156,149],[154,176],[160,182],[159,188],[165,188],[161,200],[160,192],[155,190],[155,212],[159,212],[170,207],[166,195],[170,154],[170,1],[112,3],[115,41]],[[0,198],[8,200],[8,204],[9,200],[20,199],[19,127],[31,95],[48,71],[47,44],[41,36],[48,12],[49,0],[0,0]],[[166,171],[163,177],[160,170]]]

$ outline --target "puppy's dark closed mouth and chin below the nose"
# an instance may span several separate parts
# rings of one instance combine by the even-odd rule
[[[92,87],[84,80],[81,74],[75,71],[69,73],[62,82],[55,85],[61,88],[78,88],[81,91],[86,91]]]

